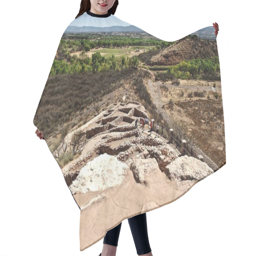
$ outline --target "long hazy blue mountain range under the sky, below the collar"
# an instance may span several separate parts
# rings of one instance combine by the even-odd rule
[[[68,28],[64,31],[64,33],[81,33],[81,32],[144,32],[142,29],[135,27],[133,25],[130,26],[112,26],[112,27],[76,27],[76,26],[68,26]]]

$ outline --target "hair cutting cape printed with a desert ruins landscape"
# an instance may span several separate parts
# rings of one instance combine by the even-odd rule
[[[63,33],[33,121],[81,211],[81,251],[226,163],[214,31],[167,42],[85,12]]]

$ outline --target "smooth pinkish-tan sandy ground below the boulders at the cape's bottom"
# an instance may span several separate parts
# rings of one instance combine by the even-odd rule
[[[81,251],[100,241],[108,230],[116,227],[123,220],[177,200],[198,182],[196,180],[171,181],[166,179],[166,175],[159,169],[151,175],[155,179],[152,179],[152,183],[148,186],[137,183],[130,171],[119,187],[108,188],[102,192],[74,195],[81,208]],[[159,188],[161,188],[161,193],[159,193]],[[95,198],[93,202],[91,198]],[[84,205],[87,205],[85,209],[83,209]]]

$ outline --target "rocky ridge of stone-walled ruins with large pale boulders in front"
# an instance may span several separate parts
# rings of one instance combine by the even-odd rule
[[[162,179],[196,182],[213,172],[196,158],[178,157],[164,138],[150,136],[147,124],[142,132],[140,118],[149,117],[139,102],[113,103],[77,128],[86,144],[81,156],[62,168],[72,194],[119,187],[128,172],[137,184],[148,187],[157,182],[161,186]]]

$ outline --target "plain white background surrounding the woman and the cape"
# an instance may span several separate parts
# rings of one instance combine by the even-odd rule
[[[115,16],[165,41],[219,24],[226,161],[177,201],[147,212],[158,255],[255,255],[255,24],[249,1],[120,0]],[[80,0],[1,2],[0,255],[80,252],[80,210],[33,118]],[[128,195],[127,195],[128,196]],[[88,236],[90,233],[88,233]],[[116,255],[137,255],[128,220]]]

